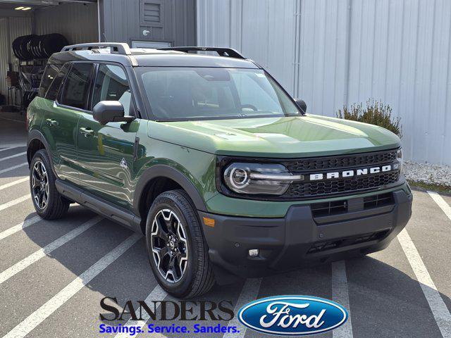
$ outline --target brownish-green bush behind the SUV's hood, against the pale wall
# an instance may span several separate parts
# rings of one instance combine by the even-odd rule
[[[338,110],[337,117],[378,125],[394,132],[398,137],[402,137],[401,118],[392,118],[392,108],[379,101],[368,100],[366,107],[362,103],[352,104],[349,109],[343,107],[342,111],[341,109]]]

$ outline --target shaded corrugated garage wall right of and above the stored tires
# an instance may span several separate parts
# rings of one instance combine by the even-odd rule
[[[97,4],[61,4],[35,11],[35,33],[60,33],[70,44],[99,41]]]

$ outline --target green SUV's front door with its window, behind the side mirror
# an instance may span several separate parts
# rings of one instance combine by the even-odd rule
[[[120,101],[125,115],[134,104],[125,70],[100,64],[92,93],[92,107],[99,101]],[[132,206],[132,173],[135,136],[140,120],[101,125],[91,113],[78,121],[78,164],[82,187],[118,206]]]

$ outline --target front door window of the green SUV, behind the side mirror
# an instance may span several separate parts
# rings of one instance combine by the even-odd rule
[[[124,106],[125,115],[130,115],[132,94],[125,72],[118,65],[99,66],[92,106],[100,101],[119,101]]]

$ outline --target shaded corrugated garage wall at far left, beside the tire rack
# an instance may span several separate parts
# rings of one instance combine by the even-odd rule
[[[17,64],[17,59],[13,54],[11,44],[16,37],[30,35],[32,32],[32,18],[11,17],[0,19],[0,93],[8,96],[8,86],[6,84],[6,72],[9,70],[9,63]],[[13,70],[17,68],[13,67]]]

